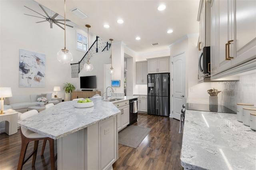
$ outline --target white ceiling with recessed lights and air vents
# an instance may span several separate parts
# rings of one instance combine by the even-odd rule
[[[64,0],[35,0],[64,16]],[[166,9],[158,11],[160,4]],[[77,7],[88,17],[81,19],[70,10]],[[66,0],[66,19],[89,32],[113,42],[122,41],[138,54],[170,50],[187,34],[199,32],[199,0]],[[118,24],[117,20],[124,20]],[[70,24],[68,22],[67,24]],[[104,28],[108,24],[110,28]],[[72,24],[70,24],[72,25]],[[173,30],[168,34],[168,30]],[[141,40],[135,38],[139,36]],[[159,45],[151,45],[159,43]]]

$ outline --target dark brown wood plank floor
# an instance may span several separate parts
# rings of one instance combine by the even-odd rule
[[[178,133],[179,121],[169,117],[138,114],[138,122],[133,125],[152,128],[138,148],[118,145],[118,160],[114,170],[182,170],[180,165],[180,149],[182,134]],[[55,153],[57,151],[57,142]],[[0,170],[16,170],[20,156],[20,130],[8,136],[0,134]],[[49,144],[46,144],[44,156],[40,156],[42,141],[38,145],[35,167],[31,167],[32,158],[24,164],[24,170],[50,170]],[[28,152],[33,150],[33,142]]]

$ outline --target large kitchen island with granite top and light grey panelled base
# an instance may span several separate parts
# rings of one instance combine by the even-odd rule
[[[58,169],[112,169],[118,156],[116,116],[111,103],[91,99],[93,107],[76,108],[77,101],[61,102],[19,121],[18,125],[58,142]]]

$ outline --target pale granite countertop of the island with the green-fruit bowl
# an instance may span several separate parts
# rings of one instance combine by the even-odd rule
[[[18,126],[58,139],[120,114],[112,102],[91,100],[94,106],[89,108],[74,107],[77,101],[60,102],[38,115],[18,121]]]

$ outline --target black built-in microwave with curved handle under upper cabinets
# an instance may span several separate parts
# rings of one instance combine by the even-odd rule
[[[201,76],[206,76],[211,74],[210,67],[210,47],[204,47],[200,52],[198,61],[198,72]]]

